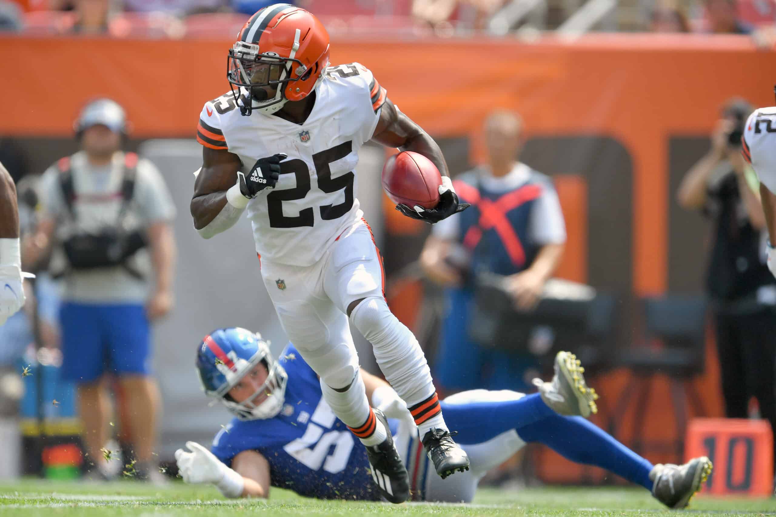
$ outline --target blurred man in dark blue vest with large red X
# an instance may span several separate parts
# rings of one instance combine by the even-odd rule
[[[499,110],[488,116],[487,165],[454,182],[459,198],[472,206],[435,224],[421,253],[428,278],[449,288],[435,365],[435,379],[446,390],[528,390],[525,377],[535,366],[534,356],[485,349],[467,336],[469,324],[476,324],[469,317],[476,275],[508,276],[515,306],[528,311],[539,302],[563,255],[566,227],[553,184],[518,161],[522,130],[514,113]]]

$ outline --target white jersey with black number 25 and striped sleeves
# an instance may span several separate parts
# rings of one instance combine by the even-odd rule
[[[313,265],[362,217],[355,165],[385,99],[372,72],[352,63],[327,68],[315,87],[313,110],[301,124],[258,111],[243,116],[231,92],[205,103],[197,141],[237,154],[246,176],[259,158],[288,154],[275,189],[248,203],[262,260]]]

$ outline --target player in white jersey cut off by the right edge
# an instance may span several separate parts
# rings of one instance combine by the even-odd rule
[[[760,178],[760,201],[768,228],[768,269],[776,276],[776,106],[753,111],[743,128],[741,144],[743,158]]]

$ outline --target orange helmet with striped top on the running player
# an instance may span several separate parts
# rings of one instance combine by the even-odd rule
[[[272,114],[310,95],[328,64],[329,34],[320,21],[295,5],[274,4],[251,16],[237,34],[227,78],[243,115],[254,109]]]

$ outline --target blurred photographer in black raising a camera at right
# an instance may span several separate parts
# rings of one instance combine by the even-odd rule
[[[765,217],[757,175],[741,155],[744,123],[753,111],[729,99],[712,148],[681,182],[677,199],[712,222],[706,290],[712,301],[729,418],[747,418],[756,397],[776,431],[776,280],[766,265]]]

